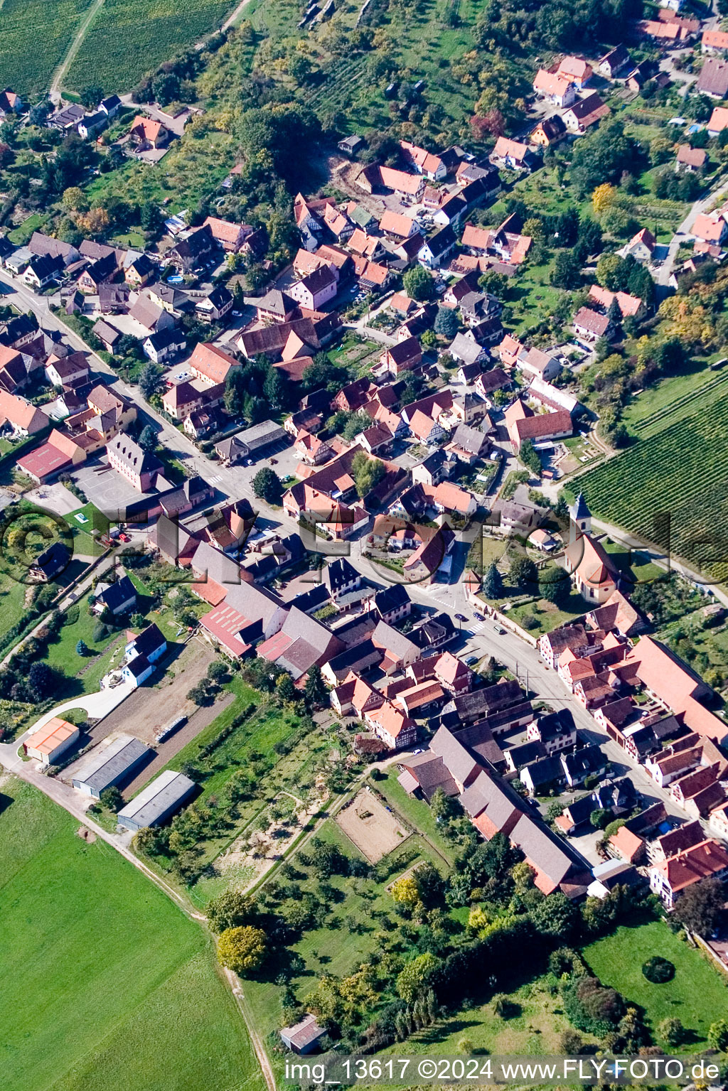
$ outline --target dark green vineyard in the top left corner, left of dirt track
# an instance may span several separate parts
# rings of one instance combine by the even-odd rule
[[[4,0],[0,9],[2,85],[23,97],[45,91],[92,0]]]

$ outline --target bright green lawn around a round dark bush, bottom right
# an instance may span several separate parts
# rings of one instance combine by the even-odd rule
[[[678,939],[663,921],[622,925],[612,935],[590,944],[583,954],[605,985],[644,1008],[655,1038],[663,1019],[680,1019],[692,1031],[692,1040],[684,1046],[689,1052],[705,1045],[708,1027],[725,1017],[728,1009],[728,980],[699,951]],[[642,966],[653,955],[672,962],[672,981],[663,985],[647,981]]]

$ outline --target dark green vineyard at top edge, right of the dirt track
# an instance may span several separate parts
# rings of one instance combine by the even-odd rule
[[[79,91],[129,91],[146,72],[216,29],[231,0],[105,0],[68,72]]]

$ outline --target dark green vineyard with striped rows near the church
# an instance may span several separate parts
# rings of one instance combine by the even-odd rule
[[[578,478],[595,516],[667,548],[723,580],[728,561],[728,395],[636,443]],[[659,540],[658,540],[659,539]]]

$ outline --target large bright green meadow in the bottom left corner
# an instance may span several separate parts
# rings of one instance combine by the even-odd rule
[[[200,926],[45,795],[0,791],[5,1091],[262,1089]]]

